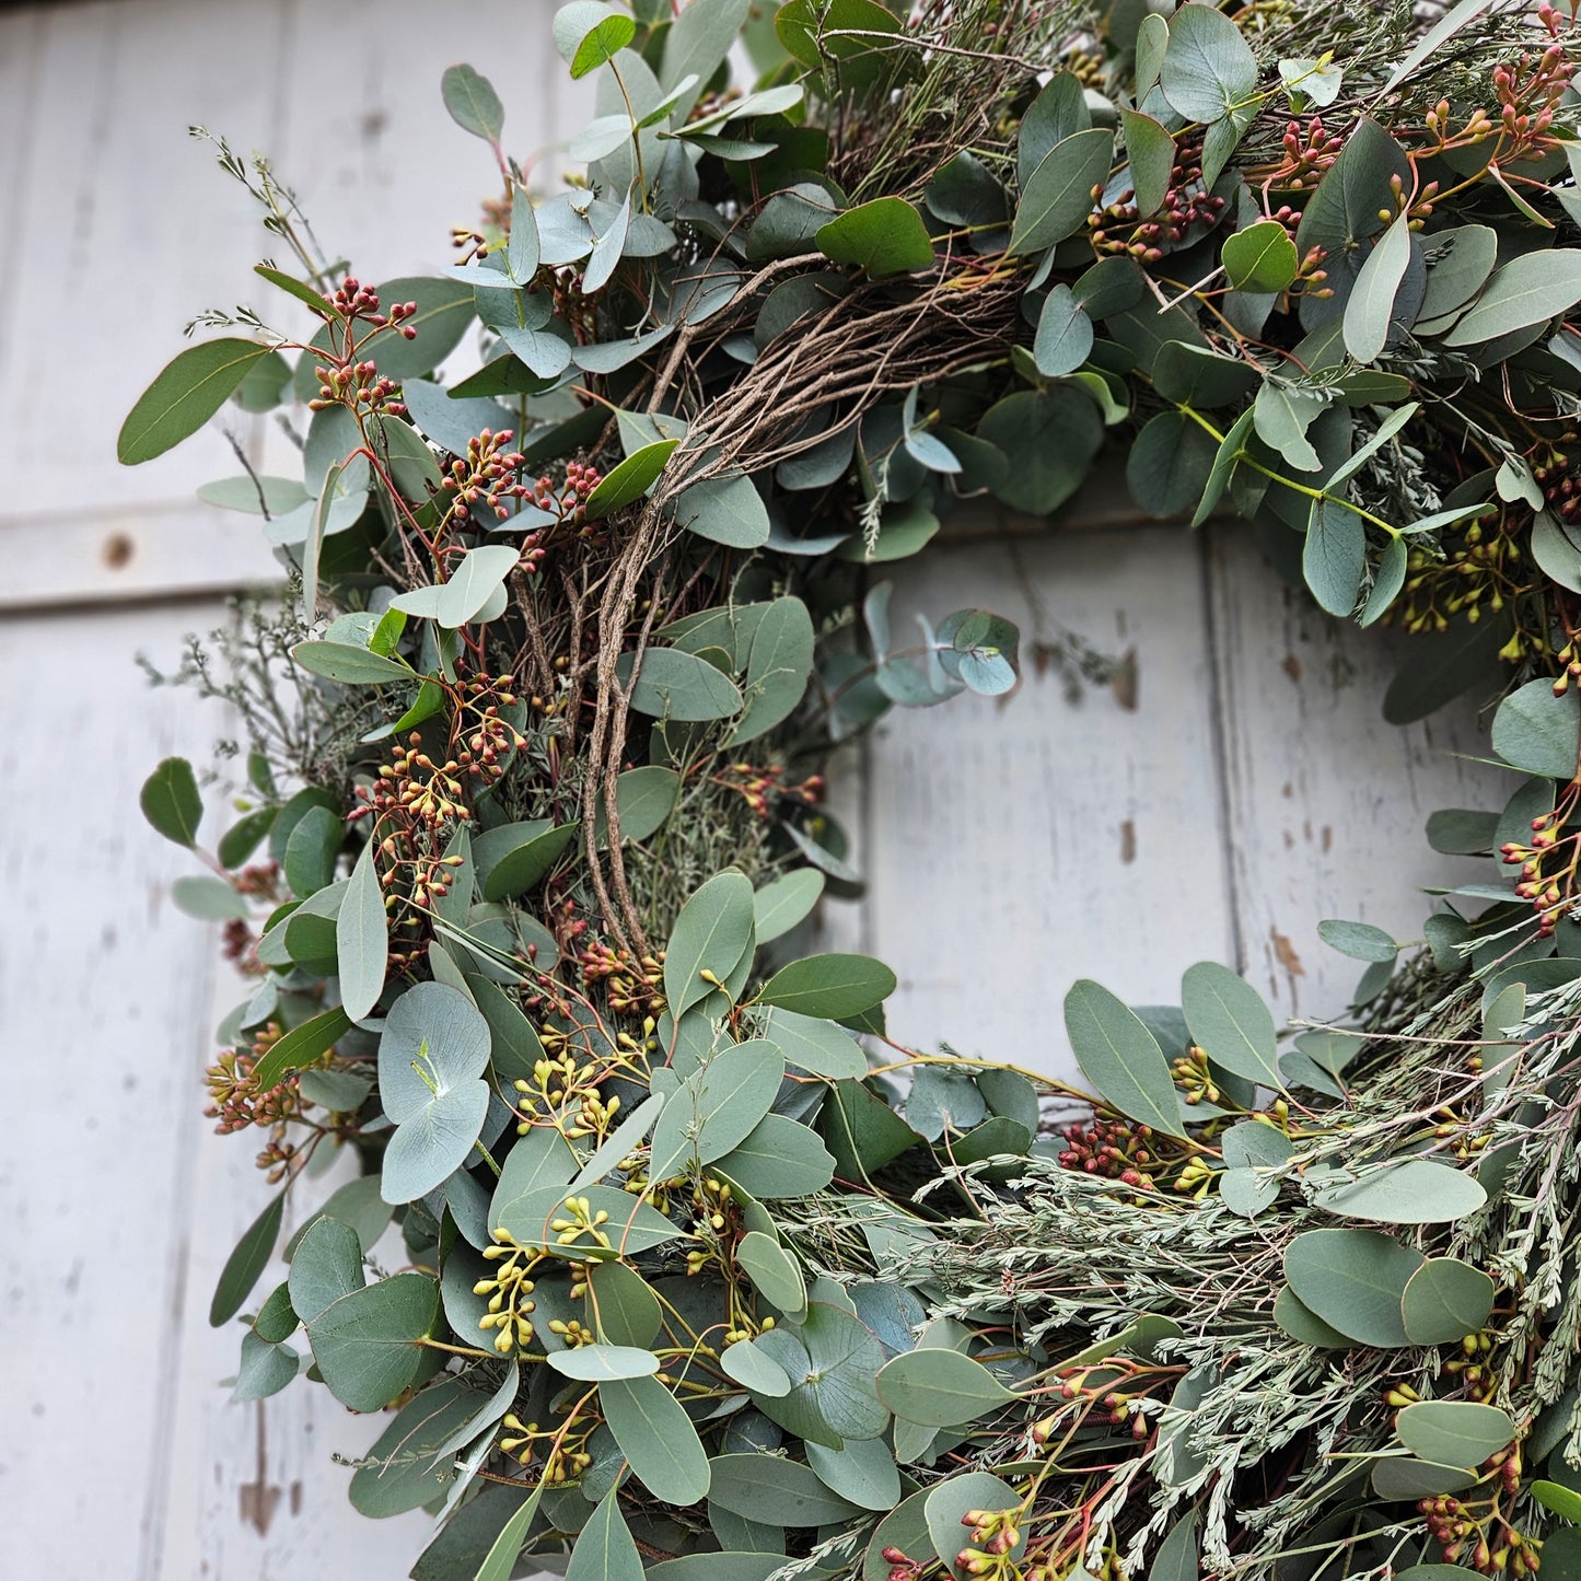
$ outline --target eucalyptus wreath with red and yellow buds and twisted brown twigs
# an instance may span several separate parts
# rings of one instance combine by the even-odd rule
[[[302,462],[201,490],[292,580],[182,670],[240,817],[199,846],[185,759],[142,792],[255,980],[209,1072],[278,1187],[213,1296],[236,1398],[394,1409],[351,1500],[436,1515],[428,1581],[1581,1575],[1573,14],[553,35],[585,174],[534,193],[452,66],[500,188],[435,277],[353,275],[218,142],[304,327],[202,315],[120,435],[234,400]],[[1431,819],[1496,868],[1424,942],[1323,925],[1333,1026],[1214,963],[1075,983],[1081,1092],[904,1047],[892,971],[798,941],[858,884],[832,749],[1017,683],[1013,624],[898,634],[874,568],[1121,454],[1415,634],[1391,718],[1497,699],[1519,783]]]

